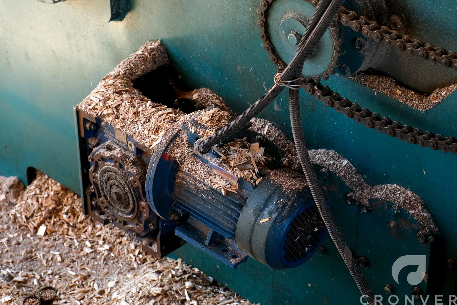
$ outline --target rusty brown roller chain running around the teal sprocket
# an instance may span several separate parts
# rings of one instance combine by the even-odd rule
[[[276,64],[278,70],[283,70],[287,64],[276,54],[266,31],[267,10],[273,1],[261,0],[260,8],[257,10],[259,14],[257,26],[260,30],[260,39],[264,43],[264,49],[270,56],[271,62]],[[312,4],[317,5],[317,2],[318,0],[315,0]],[[444,48],[435,47],[430,43],[423,43],[407,35],[400,35],[399,32],[380,26],[377,22],[359,16],[355,11],[349,11],[344,6],[338,13],[338,21],[343,26],[351,27],[354,31],[361,32],[365,37],[369,37],[379,43],[382,42],[399,51],[457,70],[456,52],[446,51]],[[336,112],[343,113],[347,118],[352,118],[357,123],[361,123],[368,128],[374,128],[377,132],[407,141],[409,144],[418,144],[421,147],[428,147],[432,150],[457,154],[457,139],[453,137],[444,137],[440,134],[422,131],[418,128],[392,121],[390,118],[381,117],[379,114],[373,113],[367,108],[362,108],[345,97],[341,97],[340,94],[332,91],[328,86],[322,85],[319,80],[315,80],[313,77],[303,79],[301,86],[306,93],[323,102],[325,106],[332,107]]]

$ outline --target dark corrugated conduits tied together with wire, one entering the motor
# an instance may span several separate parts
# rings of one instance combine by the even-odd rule
[[[282,71],[279,76],[280,80],[294,79],[291,85],[287,85],[289,89],[289,109],[292,124],[292,134],[297,149],[298,158],[305,174],[308,185],[313,194],[314,201],[319,209],[319,213],[324,220],[329,235],[335,243],[336,248],[340,252],[346,267],[351,273],[352,278],[356,282],[357,287],[360,289],[361,294],[365,297],[368,304],[374,304],[374,294],[367,283],[367,280],[361,273],[359,266],[357,265],[351,249],[347,246],[343,235],[341,234],[340,228],[335,223],[329,207],[326,203],[324,193],[322,192],[322,186],[317,179],[316,173],[313,168],[313,164],[309,158],[308,149],[306,147],[305,137],[303,134],[303,126],[300,115],[300,91],[299,82],[302,75],[303,64],[311,52],[314,50],[316,44],[324,35],[324,32],[330,26],[332,20],[335,18],[339,11],[343,0],[321,0],[314,12],[313,18],[311,19],[309,26],[306,30],[305,35],[300,40],[298,45],[298,51],[291,63],[287,65],[286,69]],[[282,86],[281,86],[282,85]],[[239,132],[244,126],[252,119],[256,114],[263,110],[268,104],[270,104],[276,96],[281,93],[285,86],[281,82],[276,82],[274,86],[268,90],[265,95],[255,102],[246,111],[241,113],[232,122],[227,124],[225,127],[219,129],[212,136],[197,141],[196,149],[200,153],[207,153],[211,147],[222,141],[228,139],[231,135]]]

